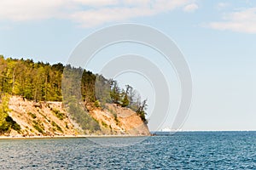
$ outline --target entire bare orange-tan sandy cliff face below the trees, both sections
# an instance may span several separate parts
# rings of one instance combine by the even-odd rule
[[[61,102],[34,102],[19,96],[9,99],[9,116],[21,130],[11,130],[10,136],[65,136],[86,133]],[[105,109],[89,107],[89,114],[100,125],[94,134],[149,135],[147,125],[128,108],[109,104]],[[88,134],[88,133],[87,133]]]

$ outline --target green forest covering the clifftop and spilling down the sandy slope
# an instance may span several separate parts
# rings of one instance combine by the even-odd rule
[[[34,101],[62,101],[73,120],[89,132],[100,129],[99,123],[87,114],[88,105],[92,104],[102,109],[109,103],[128,107],[136,111],[143,122],[147,122],[146,100],[141,102],[131,86],[127,85],[125,89],[121,89],[118,82],[112,79],[108,80],[82,68],[70,65],[65,67],[61,63],[49,65],[43,62],[35,63],[32,59],[4,59],[0,55],[0,94],[3,98],[3,94],[11,94]],[[3,100],[1,105],[5,107]],[[10,120],[9,111],[4,108],[2,112],[0,126],[4,127],[8,123],[7,127],[19,130],[15,122]],[[61,117],[61,113],[55,114]]]

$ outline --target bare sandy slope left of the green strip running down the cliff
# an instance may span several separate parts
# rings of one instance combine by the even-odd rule
[[[9,99],[9,112],[26,136],[74,135],[77,131],[61,102],[33,102],[13,96]],[[40,133],[38,127],[44,131]],[[17,135],[15,131],[11,135]]]

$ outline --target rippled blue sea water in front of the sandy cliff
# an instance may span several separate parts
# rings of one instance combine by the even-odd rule
[[[1,139],[0,169],[256,169],[256,132],[137,139]]]

